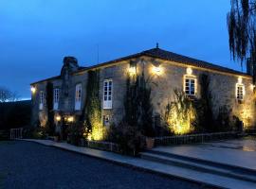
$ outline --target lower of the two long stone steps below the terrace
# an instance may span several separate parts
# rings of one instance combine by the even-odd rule
[[[206,172],[218,176],[229,177],[236,180],[246,180],[251,182],[256,182],[255,174],[248,174],[241,172],[236,169],[227,169],[227,167],[216,167],[214,165],[204,164],[204,163],[195,163],[188,160],[181,160],[178,158],[172,158],[168,156],[158,155],[151,152],[142,152],[140,156],[144,160],[153,161],[156,163],[164,163],[168,165],[179,166],[183,168],[188,168],[200,172]]]

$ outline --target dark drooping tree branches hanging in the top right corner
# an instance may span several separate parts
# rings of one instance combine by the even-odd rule
[[[253,82],[256,82],[256,0],[231,0],[227,17],[229,49],[233,60],[241,65],[250,56]]]

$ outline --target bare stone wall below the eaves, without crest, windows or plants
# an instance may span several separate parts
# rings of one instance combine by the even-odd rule
[[[101,105],[103,104],[103,80],[113,79],[113,108],[111,110],[102,110],[103,115],[109,115],[110,121],[116,124],[121,121],[124,115],[123,97],[126,93],[126,78],[129,74],[128,70],[130,62],[137,63],[137,74],[141,74],[144,70],[145,76],[149,78],[152,88],[152,103],[154,105],[155,115],[164,115],[168,102],[174,101],[174,89],[183,90],[183,77],[186,75],[188,65],[175,63],[167,60],[155,60],[149,57],[140,57],[134,60],[124,60],[118,63],[101,66],[100,70],[100,95]],[[157,64],[161,68],[160,74],[153,72],[154,65]],[[96,69],[96,68],[94,68]],[[254,120],[254,99],[251,89],[251,77],[242,77],[246,88],[245,100],[242,104],[238,103],[235,96],[235,86],[238,80],[237,75],[221,73],[203,68],[192,67],[192,75],[197,77],[197,97],[200,97],[199,77],[202,74],[210,76],[210,89],[213,95],[213,110],[216,116],[219,107],[227,105],[232,109],[232,113],[244,121],[246,127],[252,126]],[[75,87],[76,84],[82,83],[82,108],[86,99],[87,71],[77,74],[70,74],[68,79],[68,88],[64,88],[64,77],[51,80],[54,87],[61,89],[60,111],[69,112],[71,114],[81,114],[75,112]],[[37,83],[36,94],[32,95],[33,101],[33,122],[40,117],[41,123],[46,121],[46,107],[44,111],[39,111],[39,92],[46,90],[46,81]],[[68,95],[64,96],[64,89],[68,91]],[[46,104],[46,103],[45,103]]]

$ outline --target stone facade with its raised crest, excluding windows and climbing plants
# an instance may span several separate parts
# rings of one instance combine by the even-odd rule
[[[152,88],[152,103],[154,105],[154,115],[162,116],[168,102],[174,100],[174,89],[184,89],[184,77],[187,69],[192,70],[192,77],[196,78],[196,96],[200,97],[199,77],[202,74],[210,76],[210,90],[213,96],[213,112],[216,116],[221,106],[228,106],[232,114],[238,116],[249,128],[255,124],[255,105],[253,99],[252,78],[244,73],[229,72],[223,69],[214,69],[195,65],[187,62],[176,62],[174,60],[160,59],[155,56],[134,55],[119,60],[102,63],[89,68],[79,67],[73,58],[65,58],[64,66],[59,77],[48,78],[43,81],[31,84],[35,89],[32,94],[32,122],[46,124],[46,103],[44,109],[39,110],[40,92],[46,91],[46,83],[53,83],[53,88],[60,89],[59,110],[55,114],[74,115],[77,117],[82,113],[86,99],[86,84],[89,70],[100,70],[100,96],[103,104],[104,80],[112,79],[112,109],[104,110],[102,107],[102,117],[108,116],[110,122],[116,124],[123,117],[123,97],[126,92],[126,78],[130,74],[131,65],[136,65],[137,75],[144,70],[145,76],[149,78]],[[154,71],[155,66],[159,68]],[[240,80],[239,80],[240,79]],[[238,81],[239,80],[239,81]],[[244,100],[237,100],[236,83],[241,82],[245,86]],[[75,111],[76,84],[82,84],[82,108]],[[45,99],[46,100],[46,99]],[[76,119],[76,118],[75,118]]]

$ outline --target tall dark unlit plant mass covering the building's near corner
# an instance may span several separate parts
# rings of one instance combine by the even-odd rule
[[[124,96],[124,117],[118,127],[112,127],[113,141],[117,142],[123,153],[137,152],[145,146],[143,136],[155,136],[151,103],[151,89],[144,73],[134,78],[127,77]]]

